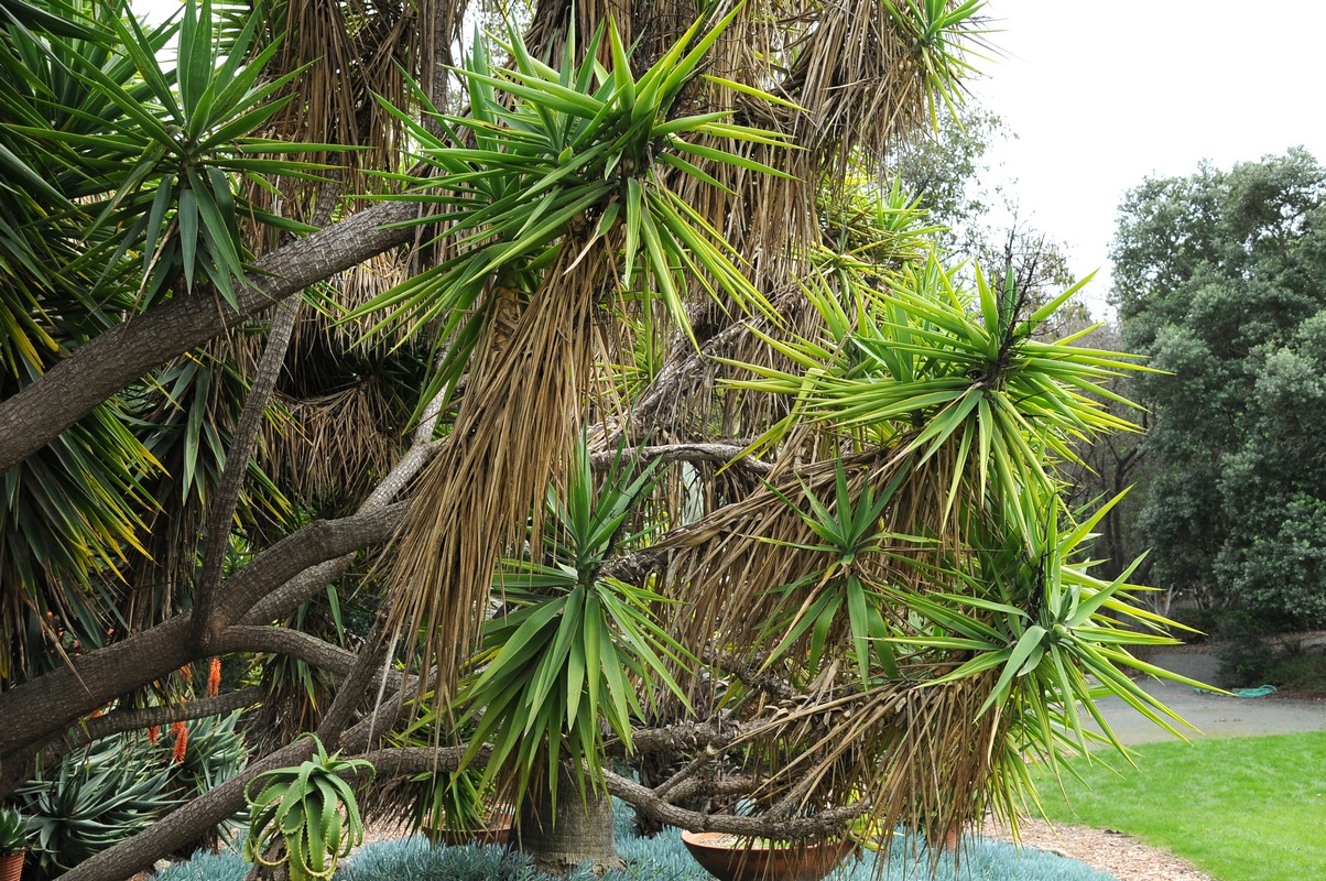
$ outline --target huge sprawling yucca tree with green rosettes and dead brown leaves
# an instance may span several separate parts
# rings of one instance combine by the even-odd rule
[[[1168,718],[1114,673],[1163,622],[1059,499],[1075,443],[1130,430],[1091,395],[1131,362],[1037,337],[1058,301],[948,265],[880,183],[960,98],[979,3],[544,0],[455,66],[440,0],[3,9],[5,626],[36,636],[0,793],[285,706],[154,689],[213,655],[309,671],[289,718],[379,779],[469,768],[536,824],[606,791],[934,833],[1016,808],[1094,690]],[[353,649],[298,625],[341,588]],[[471,734],[391,739],[420,719]],[[264,727],[263,767],[309,758]],[[69,877],[192,840],[253,774]]]

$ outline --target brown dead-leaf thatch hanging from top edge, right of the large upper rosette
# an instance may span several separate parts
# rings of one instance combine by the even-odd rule
[[[720,187],[701,186],[679,172],[671,175],[675,183],[670,180],[741,256],[743,272],[780,305],[793,333],[809,334],[817,325],[797,288],[812,272],[826,234],[819,218],[823,194],[845,188],[850,175],[876,169],[892,141],[926,125],[936,100],[943,103],[959,96],[959,77],[967,72],[964,53],[979,34],[972,24],[975,7],[937,5],[941,12],[935,3],[749,3],[715,44],[705,78],[682,96],[687,113],[731,110],[735,121],[780,131],[796,146],[712,139],[708,146],[724,146],[782,174],[700,161]],[[636,53],[644,60],[654,31],[666,31],[671,8],[650,4],[648,15],[636,11]],[[776,100],[754,100],[741,90],[752,86]],[[784,297],[785,292],[792,296]],[[731,326],[735,312],[716,317],[717,333]],[[786,366],[756,336],[745,334],[739,345],[733,357],[740,361]],[[716,383],[727,375],[719,365],[693,372],[686,399],[715,399]],[[720,431],[729,437],[760,434],[761,422],[768,426],[786,415],[774,395],[758,393],[725,394],[721,407]],[[676,410],[656,414],[663,422],[655,425],[680,431],[678,418],[686,414],[683,407]]]

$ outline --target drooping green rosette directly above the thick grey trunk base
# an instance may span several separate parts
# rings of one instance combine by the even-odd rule
[[[644,537],[630,527],[654,470],[618,455],[597,480],[581,444],[565,488],[548,491],[542,553],[496,580],[507,610],[488,621],[457,703],[475,716],[467,760],[491,743],[488,778],[504,772],[517,799],[537,774],[556,795],[564,756],[597,780],[606,731],[630,750],[642,694],[651,707],[660,686],[686,701],[674,670],[693,659],[659,625],[666,601],[603,572]]]

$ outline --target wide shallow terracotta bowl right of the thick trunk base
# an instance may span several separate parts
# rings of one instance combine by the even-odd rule
[[[682,843],[719,881],[821,881],[847,854],[853,841],[768,847],[721,832],[682,832]]]

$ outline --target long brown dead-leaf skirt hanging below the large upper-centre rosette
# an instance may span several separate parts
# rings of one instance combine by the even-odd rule
[[[524,540],[581,433],[606,256],[594,249],[568,275],[578,251],[564,247],[532,293],[488,293],[451,440],[420,476],[392,543],[391,625],[420,669],[436,665],[443,694],[480,633],[499,559]],[[530,541],[538,547],[537,521]]]

